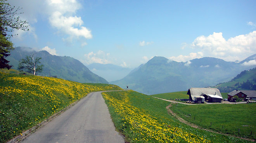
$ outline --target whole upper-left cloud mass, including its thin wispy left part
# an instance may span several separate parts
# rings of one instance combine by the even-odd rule
[[[21,20],[27,20],[29,22],[28,34],[31,34],[37,39],[36,29],[31,26],[38,22],[38,15],[41,18],[48,19],[50,25],[57,30],[58,34],[63,34],[63,40],[72,42],[73,39],[91,39],[92,33],[87,27],[84,26],[84,22],[76,12],[82,8],[78,0],[8,0],[11,5],[16,7],[22,7],[21,12],[24,12],[20,16]],[[23,31],[18,30],[19,38],[24,34]],[[85,46],[83,42],[81,46]]]

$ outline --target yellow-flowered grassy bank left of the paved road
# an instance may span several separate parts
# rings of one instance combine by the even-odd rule
[[[110,84],[0,72],[0,142],[21,135],[90,92],[106,90],[122,89]]]

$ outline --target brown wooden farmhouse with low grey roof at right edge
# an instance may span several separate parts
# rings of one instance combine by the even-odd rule
[[[238,96],[238,98],[248,98],[249,100],[256,100],[256,91],[254,90],[234,90],[228,93],[228,101],[232,101],[233,96]]]

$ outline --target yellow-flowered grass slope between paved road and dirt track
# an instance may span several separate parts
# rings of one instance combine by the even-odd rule
[[[102,93],[116,129],[126,142],[235,143],[250,142],[192,128],[170,116],[170,102],[135,91]]]

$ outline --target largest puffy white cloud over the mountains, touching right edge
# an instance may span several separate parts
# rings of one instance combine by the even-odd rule
[[[245,35],[238,35],[225,40],[222,33],[214,32],[208,37],[197,37],[191,47],[201,50],[204,56],[216,57],[225,61],[243,60],[248,53],[256,53],[256,31]]]

